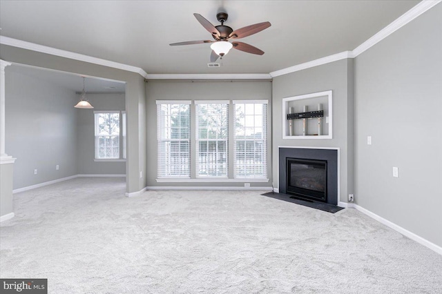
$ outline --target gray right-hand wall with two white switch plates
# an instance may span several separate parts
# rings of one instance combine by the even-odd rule
[[[441,52],[439,4],[355,61],[356,204],[439,246]]]

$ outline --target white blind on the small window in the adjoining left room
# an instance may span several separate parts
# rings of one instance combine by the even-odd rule
[[[119,159],[119,111],[95,111],[95,159]]]

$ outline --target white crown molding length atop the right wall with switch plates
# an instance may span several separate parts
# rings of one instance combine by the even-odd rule
[[[377,32],[373,37],[369,38],[367,41],[356,47],[353,50],[354,57],[360,55],[362,52],[365,52],[365,50],[372,48],[372,46],[376,45],[376,43],[392,35],[392,33],[396,32],[396,30],[402,28],[407,23],[409,23],[416,17],[419,17],[419,15],[423,14],[423,12],[430,10],[439,3],[441,3],[441,0],[423,0],[419,2],[412,9],[402,14],[401,17],[398,17],[398,19]]]

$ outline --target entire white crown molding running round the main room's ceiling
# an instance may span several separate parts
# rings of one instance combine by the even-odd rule
[[[437,4],[441,3],[442,0],[423,0],[419,2],[412,9],[405,12],[401,17],[398,17],[395,21],[390,23],[388,26],[380,30],[373,37],[367,39],[364,43],[359,45],[354,50],[340,52],[334,55],[329,55],[327,57],[322,57],[319,59],[315,59],[312,61],[308,61],[305,63],[300,63],[296,66],[291,66],[289,68],[283,68],[281,70],[276,70],[270,72],[269,74],[147,74],[142,68],[138,68],[136,66],[128,66],[123,63],[117,63],[114,61],[109,61],[106,59],[100,59],[97,57],[90,57],[88,55],[81,55],[75,52],[70,52],[66,50],[60,50],[56,48],[51,48],[48,46],[42,46],[35,43],[30,43],[27,41],[21,41],[18,39],[12,39],[10,37],[0,36],[0,43],[8,46],[14,46],[17,48],[23,48],[28,50],[33,50],[36,52],[46,53],[50,55],[55,55],[59,57],[66,57],[68,59],[75,59],[78,61],[85,61],[89,63],[95,63],[101,66],[108,66],[111,68],[117,68],[120,70],[127,70],[129,72],[137,72],[139,75],[144,77],[145,79],[150,80],[166,80],[166,79],[238,79],[238,80],[263,80],[263,79],[272,79],[273,77],[278,77],[280,75],[287,75],[291,72],[297,72],[299,70],[305,70],[307,68],[313,68],[315,66],[320,66],[325,63],[331,63],[334,61],[354,58],[365,52],[372,46],[376,45],[376,43],[382,41],[386,37],[390,36],[393,32],[396,32],[399,28],[402,28],[407,23],[419,17],[419,15],[423,14],[427,10],[430,10]]]

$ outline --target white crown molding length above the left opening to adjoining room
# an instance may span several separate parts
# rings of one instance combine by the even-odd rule
[[[101,58],[97,58],[97,57],[90,57],[88,55],[82,55],[79,53],[70,52],[70,51],[66,51],[66,50],[60,50],[57,48],[43,46],[43,45],[39,45],[36,43],[30,43],[27,41],[21,41],[18,39],[13,39],[10,37],[5,37],[5,36],[0,36],[0,43],[3,45],[32,50],[35,52],[46,53],[49,55],[65,57],[68,59],[74,59],[74,60],[78,60],[78,61],[85,61],[88,63],[94,63],[94,64],[98,64],[100,66],[108,66],[110,68],[117,68],[119,70],[126,70],[128,72],[136,72],[137,74],[142,75],[142,77],[144,77],[144,78],[147,77],[147,73],[144,70],[142,70],[142,68],[137,68],[136,66],[128,66],[126,64],[118,63],[115,61],[110,61],[110,60],[101,59]]]

